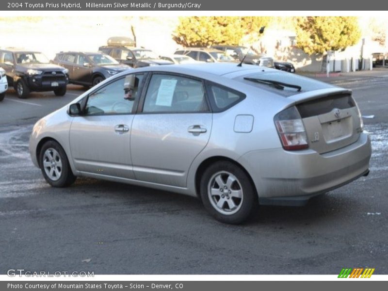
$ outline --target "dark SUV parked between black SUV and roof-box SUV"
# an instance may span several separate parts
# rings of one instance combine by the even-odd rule
[[[119,72],[132,69],[102,52],[60,52],[52,62],[68,69],[70,83],[84,86],[94,86]]]

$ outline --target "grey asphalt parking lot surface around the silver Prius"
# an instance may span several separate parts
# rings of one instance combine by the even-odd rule
[[[260,207],[242,226],[215,221],[179,194],[90,178],[51,188],[30,160],[32,125],[84,89],[23,100],[8,92],[0,103],[0,274],[388,274],[388,70],[319,79],[354,90],[372,139],[370,175],[305,207]]]

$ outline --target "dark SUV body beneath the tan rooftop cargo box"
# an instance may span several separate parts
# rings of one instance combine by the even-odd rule
[[[102,51],[120,62],[130,65],[133,68],[145,67],[149,65],[173,65],[173,62],[162,60],[150,49],[132,48],[124,46],[104,46],[99,47]]]

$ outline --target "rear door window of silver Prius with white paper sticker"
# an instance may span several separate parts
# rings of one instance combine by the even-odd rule
[[[202,81],[154,74],[149,82],[143,112],[208,112]]]

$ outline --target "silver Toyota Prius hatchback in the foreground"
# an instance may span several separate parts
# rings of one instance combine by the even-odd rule
[[[32,162],[54,187],[93,177],[197,196],[237,224],[369,172],[352,92],[255,65],[150,66],[40,119]]]

